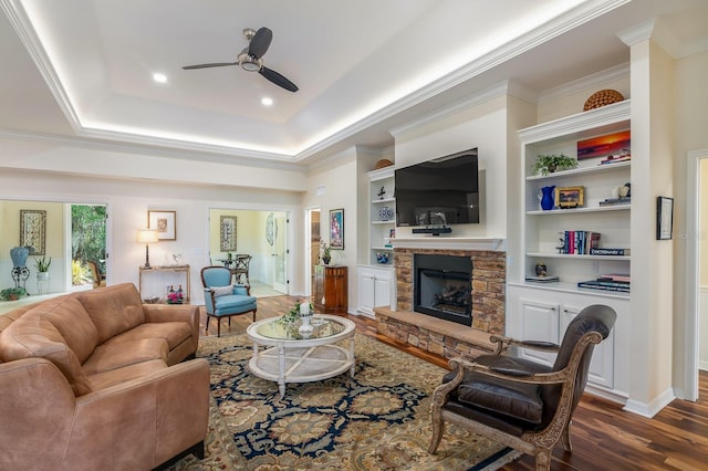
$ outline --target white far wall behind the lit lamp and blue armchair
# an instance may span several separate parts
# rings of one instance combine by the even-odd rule
[[[108,284],[138,284],[138,266],[145,262],[145,245],[135,242],[136,231],[145,227],[148,210],[175,210],[177,240],[153,244],[150,261],[162,264],[173,253],[181,253],[184,263],[191,266],[191,299],[197,304],[204,302],[199,270],[210,264],[209,208],[228,205],[239,209],[291,212],[300,208],[300,193],[275,189],[157,184],[15,170],[0,174],[0,199],[108,205]],[[298,245],[301,233],[292,237]],[[293,276],[294,280],[298,278]],[[296,283],[294,289],[298,289]]]

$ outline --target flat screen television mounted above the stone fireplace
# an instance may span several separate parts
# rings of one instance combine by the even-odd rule
[[[477,148],[398,168],[395,188],[398,227],[479,223]]]

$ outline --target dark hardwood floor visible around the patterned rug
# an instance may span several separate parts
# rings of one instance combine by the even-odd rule
[[[281,315],[295,302],[295,296],[261,297],[257,318]],[[377,335],[375,321],[348,315],[356,332],[376,337],[410,355],[447,368],[447,360],[407,344]],[[250,315],[221,321],[221,334],[243,332]],[[206,314],[201,313],[205,335],[216,335],[212,318],[205,333]],[[696,402],[674,400],[654,418],[625,412],[622,406],[585,394],[575,410],[572,426],[573,452],[562,444],[553,450],[553,470],[708,470],[708,373],[700,374],[700,399]],[[444,438],[445,439],[445,438]],[[523,456],[502,470],[533,470],[534,462]]]

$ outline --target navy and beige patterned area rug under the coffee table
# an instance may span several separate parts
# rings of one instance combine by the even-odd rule
[[[356,374],[278,385],[248,371],[246,334],[206,337],[197,356],[211,366],[206,458],[173,470],[494,470],[519,453],[448,425],[437,454],[430,395],[445,369],[363,335]]]

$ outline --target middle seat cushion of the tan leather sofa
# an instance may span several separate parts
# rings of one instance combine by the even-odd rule
[[[140,338],[98,345],[82,365],[87,376],[111,371],[137,363],[160,359],[167,363],[167,342],[163,338]]]

